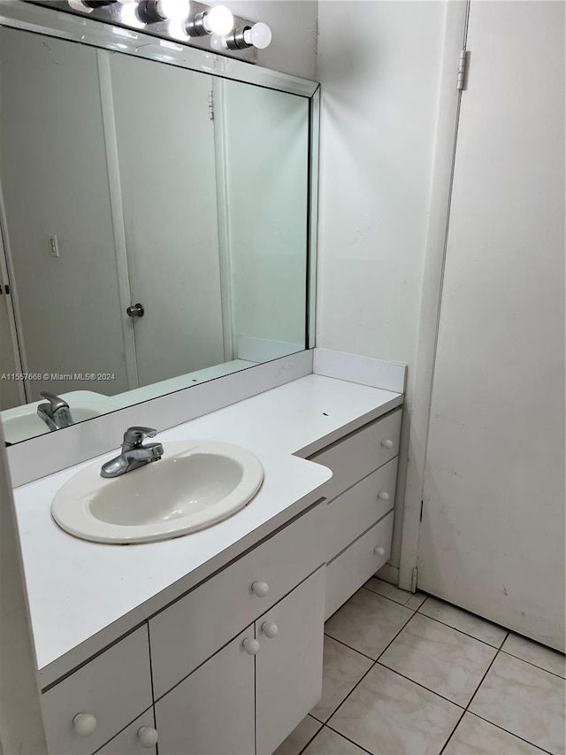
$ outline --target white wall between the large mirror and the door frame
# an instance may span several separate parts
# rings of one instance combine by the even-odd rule
[[[346,10],[356,23],[345,23]],[[319,5],[317,346],[406,362],[409,412],[445,10],[444,2]],[[405,444],[407,435],[405,421]]]

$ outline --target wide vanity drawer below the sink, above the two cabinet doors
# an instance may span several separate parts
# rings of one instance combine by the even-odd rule
[[[325,563],[325,513],[317,505],[149,620],[156,699]]]

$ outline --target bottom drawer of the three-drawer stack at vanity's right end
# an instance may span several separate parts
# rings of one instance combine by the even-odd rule
[[[326,567],[325,620],[386,563],[391,552],[393,517],[394,512],[388,513]]]

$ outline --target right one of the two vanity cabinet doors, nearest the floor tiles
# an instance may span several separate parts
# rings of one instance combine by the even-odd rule
[[[256,621],[257,755],[271,755],[320,699],[324,612],[322,566]]]

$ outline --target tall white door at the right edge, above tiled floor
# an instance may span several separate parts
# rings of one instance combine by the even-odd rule
[[[564,648],[564,4],[472,0],[418,586]]]

